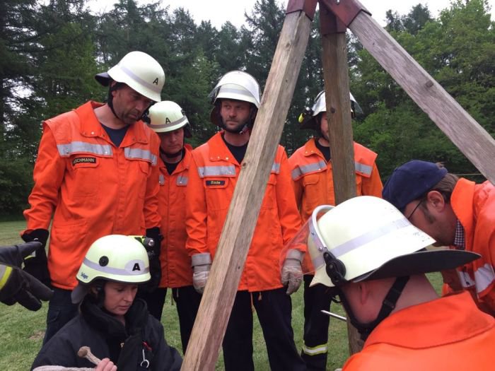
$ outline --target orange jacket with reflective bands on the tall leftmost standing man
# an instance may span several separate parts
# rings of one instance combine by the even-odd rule
[[[158,136],[131,125],[119,148],[87,102],[43,123],[35,185],[24,211],[27,229],[48,229],[52,284],[72,290],[91,244],[111,234],[144,235],[160,225]]]

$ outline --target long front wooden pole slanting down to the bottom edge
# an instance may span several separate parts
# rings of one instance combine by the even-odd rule
[[[308,44],[310,23],[310,18],[302,11],[289,13],[284,20],[260,110],[181,370],[215,369]]]

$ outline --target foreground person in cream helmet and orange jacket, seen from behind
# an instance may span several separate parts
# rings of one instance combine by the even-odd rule
[[[320,206],[304,230],[312,284],[334,288],[365,340],[343,371],[493,370],[495,319],[469,293],[438,298],[424,274],[470,264],[479,254],[426,249],[434,240],[374,196]]]

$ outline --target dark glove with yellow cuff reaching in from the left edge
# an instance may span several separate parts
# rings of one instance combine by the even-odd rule
[[[18,302],[28,310],[39,310],[40,300],[52,298],[50,288],[21,269],[23,258],[36,249],[43,249],[40,242],[0,247],[0,302]]]

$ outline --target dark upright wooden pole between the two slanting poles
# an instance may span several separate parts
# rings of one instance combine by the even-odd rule
[[[351,101],[349,99],[349,70],[345,26],[325,8],[320,8],[322,27],[322,66],[325,79],[325,102],[332,153],[332,177],[335,203],[340,204],[356,196],[356,167],[352,136]],[[347,322],[349,353],[361,351],[359,332]]]

